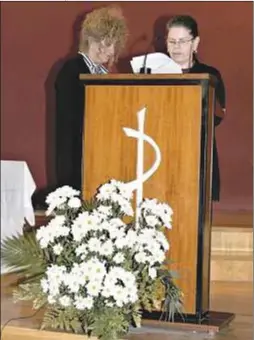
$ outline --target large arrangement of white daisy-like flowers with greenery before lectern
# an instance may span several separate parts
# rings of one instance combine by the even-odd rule
[[[15,299],[46,306],[43,328],[102,340],[139,326],[142,309],[152,310],[158,300],[180,311],[182,294],[164,265],[164,229],[171,228],[172,209],[145,199],[134,222],[132,191],[115,180],[102,185],[90,203],[79,195],[68,186],[48,195],[46,214],[53,217],[34,234],[38,261],[26,263],[26,274],[30,268],[33,275],[15,290]],[[15,266],[9,256],[13,241],[3,245],[3,259]]]

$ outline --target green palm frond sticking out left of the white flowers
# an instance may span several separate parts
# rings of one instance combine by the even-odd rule
[[[8,237],[1,244],[1,258],[8,267],[18,270],[26,280],[36,280],[44,274],[46,259],[36,240],[35,231]]]

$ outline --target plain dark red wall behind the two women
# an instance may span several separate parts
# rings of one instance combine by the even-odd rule
[[[53,157],[52,84],[59,59],[75,50],[79,16],[102,3],[1,3],[1,159],[26,160],[38,187],[51,181],[46,164]],[[123,2],[122,8],[131,31],[125,56],[147,50],[160,17],[186,13],[198,20],[200,59],[219,68],[227,87],[227,118],[217,129],[222,174],[217,208],[251,210],[253,4]]]

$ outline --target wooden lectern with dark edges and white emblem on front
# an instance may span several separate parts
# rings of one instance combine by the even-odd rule
[[[85,93],[82,195],[115,178],[136,178],[137,141],[124,127],[137,128],[137,112],[147,108],[145,133],[162,161],[144,183],[144,197],[167,202],[173,228],[167,232],[172,268],[184,292],[187,315],[209,311],[213,78],[186,75],[80,75]],[[144,170],[154,150],[144,145]]]

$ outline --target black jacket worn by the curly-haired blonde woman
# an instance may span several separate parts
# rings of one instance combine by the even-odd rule
[[[89,74],[82,55],[65,62],[55,81],[57,185],[81,189],[84,87],[79,75]]]

